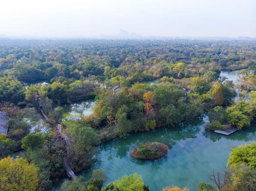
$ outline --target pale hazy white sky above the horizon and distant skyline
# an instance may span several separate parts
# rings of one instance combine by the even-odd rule
[[[0,0],[0,34],[256,37],[256,0]]]

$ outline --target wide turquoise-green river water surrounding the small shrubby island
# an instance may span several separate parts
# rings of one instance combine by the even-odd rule
[[[235,71],[222,71],[220,75],[237,83]],[[158,82],[153,82],[158,83]],[[238,97],[239,98],[239,97]],[[236,100],[238,100],[236,98]],[[151,191],[160,191],[168,185],[187,186],[196,191],[199,182],[211,183],[207,177],[212,169],[225,171],[230,149],[256,140],[256,126],[244,128],[230,136],[206,132],[207,115],[202,115],[190,123],[183,123],[174,128],[158,128],[149,132],[138,132],[126,138],[116,138],[99,146],[97,162],[87,171],[78,173],[90,179],[92,170],[104,169],[108,180],[104,185],[124,175],[139,173],[144,184]],[[138,143],[158,141],[167,144],[168,155],[154,161],[133,159],[130,151]],[[52,191],[59,191],[63,178]]]

